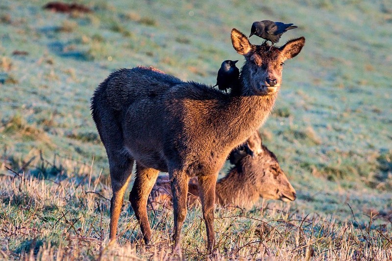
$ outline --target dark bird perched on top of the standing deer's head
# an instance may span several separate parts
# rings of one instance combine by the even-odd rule
[[[254,22],[250,29],[249,37],[253,34],[270,41],[273,44],[279,42],[280,37],[287,30],[297,28],[294,24],[284,24],[280,22],[272,22],[270,20],[263,20],[260,22]],[[272,47],[271,45],[271,47]]]

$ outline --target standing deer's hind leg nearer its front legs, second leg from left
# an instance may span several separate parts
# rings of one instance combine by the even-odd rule
[[[151,240],[151,228],[147,217],[147,200],[158,177],[158,173],[158,170],[146,168],[136,162],[136,179],[129,193],[129,201],[139,221],[146,244]]]

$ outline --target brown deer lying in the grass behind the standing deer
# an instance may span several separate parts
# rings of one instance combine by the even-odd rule
[[[276,156],[264,145],[258,131],[235,149],[229,156],[235,162],[230,172],[216,184],[215,202],[221,206],[253,207],[260,197],[294,201],[295,190],[280,168]],[[151,202],[165,206],[172,203],[172,191],[168,176],[159,176],[150,193]],[[197,177],[188,183],[188,207],[198,203]]]

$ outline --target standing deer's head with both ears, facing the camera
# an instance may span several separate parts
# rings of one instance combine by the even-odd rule
[[[234,49],[245,56],[245,64],[241,70],[245,94],[264,96],[279,90],[284,61],[301,52],[305,38],[290,40],[279,48],[270,48],[266,42],[262,45],[251,44],[245,34],[233,28],[231,42]]]

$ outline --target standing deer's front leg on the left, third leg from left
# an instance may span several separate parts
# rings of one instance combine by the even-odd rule
[[[189,177],[185,172],[174,171],[170,173],[172,180],[173,212],[174,212],[174,246],[173,253],[181,258],[181,228],[187,215],[187,195]]]

